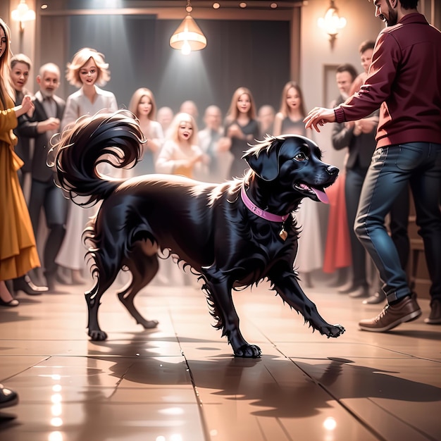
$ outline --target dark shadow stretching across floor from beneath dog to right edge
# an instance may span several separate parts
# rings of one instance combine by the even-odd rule
[[[89,352],[92,359],[113,362],[111,375],[123,378],[119,387],[193,383],[199,392],[209,389],[211,394],[225,399],[252,402],[256,410],[251,414],[255,416],[304,418],[335,406],[336,400],[351,398],[378,397],[404,402],[441,400],[439,387],[399,378],[395,375],[397,372],[361,366],[348,359],[286,359],[266,355],[260,359],[241,359],[228,352],[219,355],[212,341],[180,338],[183,343],[198,344],[197,349],[206,351],[206,359],[185,358],[184,354],[177,362],[176,357],[139,356],[139,353],[133,356],[138,344],[144,347],[146,344],[145,338],[133,337],[132,342],[125,341],[123,346],[114,342],[99,343],[119,356],[97,356],[93,350]],[[161,341],[176,340],[169,337]],[[211,356],[214,350],[218,355]]]

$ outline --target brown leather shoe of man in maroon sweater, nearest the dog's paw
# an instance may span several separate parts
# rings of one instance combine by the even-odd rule
[[[373,333],[384,333],[401,323],[416,320],[419,316],[421,309],[416,303],[416,296],[412,294],[397,304],[387,304],[378,316],[359,321],[359,328]]]

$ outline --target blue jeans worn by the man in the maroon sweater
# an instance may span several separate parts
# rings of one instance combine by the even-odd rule
[[[385,216],[409,183],[432,282],[430,296],[441,300],[441,144],[409,142],[376,149],[354,230],[378,268],[387,301],[410,294],[397,248],[385,228]]]

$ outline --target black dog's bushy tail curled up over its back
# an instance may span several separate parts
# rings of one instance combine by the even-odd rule
[[[120,185],[123,180],[99,173],[100,163],[116,168],[133,166],[141,155],[145,142],[135,116],[129,111],[97,113],[79,118],[68,126],[54,145],[50,163],[57,184],[70,199],[80,196],[78,205],[89,206]]]

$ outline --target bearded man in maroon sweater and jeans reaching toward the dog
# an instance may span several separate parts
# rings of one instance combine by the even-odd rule
[[[421,315],[385,216],[410,183],[430,280],[430,316],[441,324],[441,32],[418,13],[418,0],[373,0],[387,27],[375,43],[361,89],[336,108],[313,108],[304,119],[317,131],[325,123],[359,120],[380,107],[377,147],[366,175],[354,230],[380,272],[387,305],[359,322],[383,332]]]

